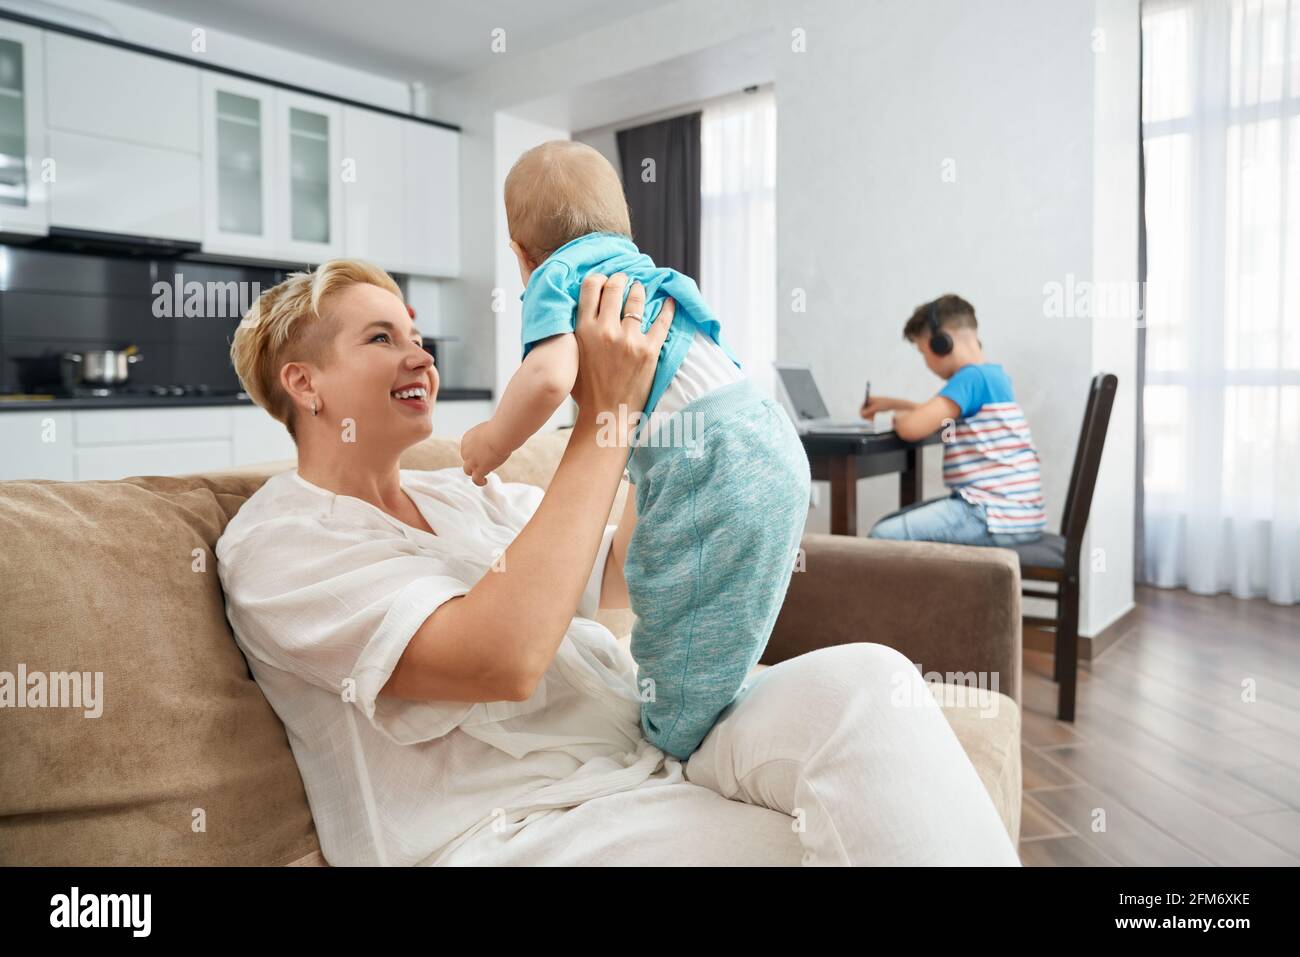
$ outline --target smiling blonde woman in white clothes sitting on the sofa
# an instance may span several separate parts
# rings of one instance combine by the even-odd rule
[[[636,515],[604,525],[627,459],[608,428],[644,406],[672,303],[642,333],[624,282],[584,283],[577,421],[545,494],[399,468],[438,373],[382,270],[295,274],[240,324],[235,369],[298,469],[248,498],[218,571],[325,858],[1018,865],[942,713],[890,705],[928,688],[881,645],[760,672],[686,762],[641,736],[630,655],[592,618],[627,607]]]

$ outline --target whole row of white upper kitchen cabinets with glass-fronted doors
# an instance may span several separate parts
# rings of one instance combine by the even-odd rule
[[[51,225],[455,277],[460,137],[0,21],[0,231]]]

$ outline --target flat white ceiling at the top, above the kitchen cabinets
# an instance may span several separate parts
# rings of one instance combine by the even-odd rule
[[[671,0],[124,1],[380,75],[438,82],[486,68],[497,27],[508,52],[533,52]]]

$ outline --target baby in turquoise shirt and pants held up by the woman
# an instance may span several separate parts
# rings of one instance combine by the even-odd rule
[[[640,282],[642,329],[675,302],[645,408],[628,413],[636,528],[623,571],[641,728],[685,759],[767,646],[807,519],[807,455],[785,411],[741,373],[696,282],[632,242],[623,185],[599,152],[569,140],[525,152],[506,177],[506,217],[525,285],[524,361],[495,415],[462,439],[477,484],[572,390],[582,277]]]

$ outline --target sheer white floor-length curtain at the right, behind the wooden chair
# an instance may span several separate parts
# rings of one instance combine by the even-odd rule
[[[1143,4],[1144,576],[1300,601],[1300,0]]]

